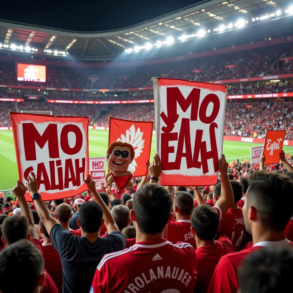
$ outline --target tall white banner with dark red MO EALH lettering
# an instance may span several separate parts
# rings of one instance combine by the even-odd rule
[[[222,159],[227,86],[153,78],[161,185],[212,185]]]

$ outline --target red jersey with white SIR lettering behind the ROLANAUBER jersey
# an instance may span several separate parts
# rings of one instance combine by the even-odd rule
[[[168,240],[172,243],[179,241],[191,244],[196,248],[195,239],[191,233],[191,220],[178,220],[168,224]]]

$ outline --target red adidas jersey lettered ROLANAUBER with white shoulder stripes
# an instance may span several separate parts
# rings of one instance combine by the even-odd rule
[[[194,248],[164,238],[104,255],[90,292],[193,292],[195,280]]]

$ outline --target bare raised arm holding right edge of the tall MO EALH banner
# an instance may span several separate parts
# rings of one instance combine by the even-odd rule
[[[225,155],[223,159],[219,160],[219,171],[221,173],[221,197],[215,204],[222,210],[222,217],[226,214],[227,210],[234,204],[233,191],[228,177],[228,163],[226,162]]]

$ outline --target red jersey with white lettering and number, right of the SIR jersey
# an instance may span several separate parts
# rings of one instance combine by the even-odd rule
[[[220,221],[219,232],[226,234],[230,238],[235,251],[242,249],[243,229],[242,209],[228,209]]]

